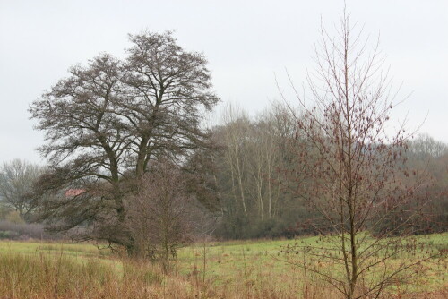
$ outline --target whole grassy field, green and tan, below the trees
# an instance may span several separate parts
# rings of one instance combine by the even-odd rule
[[[435,257],[418,281],[397,284],[388,297],[448,297],[448,261],[437,255],[448,250],[448,234],[420,241]],[[284,262],[280,247],[288,243],[196,243],[178,252],[166,275],[158,265],[88,243],[0,242],[0,298],[337,298],[330,286]]]

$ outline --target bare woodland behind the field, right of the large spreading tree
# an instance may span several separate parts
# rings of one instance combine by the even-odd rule
[[[228,107],[224,124],[213,129],[222,154],[215,159],[220,192],[220,222],[215,235],[225,239],[313,235],[319,215],[290,192],[286,176],[298,167],[297,113],[275,104],[259,115]],[[409,141],[409,171],[426,174],[422,196],[429,202],[412,224],[416,233],[441,232],[448,224],[448,145],[427,134]],[[296,169],[297,170],[297,169]],[[304,171],[304,170],[302,170]],[[410,179],[410,177],[408,177]],[[286,183],[289,182],[289,183]],[[425,193],[425,194],[423,194]],[[400,218],[398,210],[396,218]],[[389,225],[393,219],[389,220]],[[384,223],[387,226],[387,223]]]

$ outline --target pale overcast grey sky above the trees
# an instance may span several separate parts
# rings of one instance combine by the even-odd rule
[[[448,1],[348,0],[352,20],[380,33],[393,81],[404,97],[395,120],[448,141]],[[128,33],[176,30],[178,43],[209,59],[222,104],[256,112],[297,84],[313,66],[321,16],[339,19],[342,0],[326,1],[118,1],[0,0],[0,162],[25,158],[43,163],[35,149],[30,102],[100,52],[124,56]]]

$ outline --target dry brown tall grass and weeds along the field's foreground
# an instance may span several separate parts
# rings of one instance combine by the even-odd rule
[[[441,261],[444,265],[432,267],[433,272],[446,270],[445,260]],[[341,298],[331,286],[302,269],[269,268],[268,264],[281,262],[275,259],[257,265],[245,256],[238,261],[241,267],[232,269],[225,278],[211,269],[212,262],[206,246],[194,251],[188,266],[173,261],[168,272],[150,261],[75,256],[62,249],[51,253],[0,252],[0,298]],[[443,273],[432,275],[444,278]],[[383,298],[448,298],[446,282],[437,286],[423,292],[397,284]]]

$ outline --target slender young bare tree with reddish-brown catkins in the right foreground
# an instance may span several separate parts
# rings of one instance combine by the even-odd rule
[[[403,127],[386,132],[395,97],[378,44],[368,53],[370,44],[345,11],[336,38],[324,27],[321,35],[317,67],[307,76],[314,107],[295,90],[304,116],[297,119],[297,167],[290,178],[297,196],[319,212],[321,226],[314,228],[326,236],[286,251],[304,254],[297,265],[346,298],[377,298],[410,273],[412,263],[391,260],[415,249],[405,236],[425,175],[404,167],[411,133]]]

